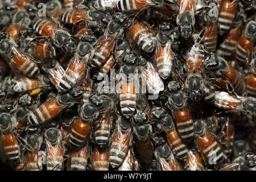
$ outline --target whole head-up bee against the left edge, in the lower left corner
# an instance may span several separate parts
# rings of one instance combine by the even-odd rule
[[[1,147],[3,148],[3,156],[1,159],[8,159],[12,168],[15,168],[22,162],[20,155],[20,147],[16,139],[11,123],[14,118],[9,113],[0,114],[0,130],[1,130]],[[3,160],[2,159],[2,160]]]

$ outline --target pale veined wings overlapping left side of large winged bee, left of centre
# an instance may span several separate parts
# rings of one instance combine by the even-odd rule
[[[59,85],[60,79],[65,73],[63,67],[61,67],[60,64],[57,64],[57,68],[55,69],[46,68],[46,71],[49,74],[49,80],[52,82],[52,84],[55,86],[57,90],[60,90],[60,85]]]

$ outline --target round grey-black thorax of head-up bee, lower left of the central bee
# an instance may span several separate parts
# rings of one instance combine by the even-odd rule
[[[82,106],[82,112],[81,112],[80,116],[85,121],[88,121],[89,119],[97,118],[98,114],[99,114],[99,112],[98,112],[98,109],[96,106],[94,106],[92,104],[84,104]]]

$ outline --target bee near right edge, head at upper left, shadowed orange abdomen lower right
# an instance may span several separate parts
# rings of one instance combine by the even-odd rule
[[[205,69],[208,69],[213,78],[217,78],[217,85],[230,90],[230,85],[234,91],[240,95],[245,93],[245,82],[240,72],[236,71],[230,64],[217,55],[211,54],[205,60]]]

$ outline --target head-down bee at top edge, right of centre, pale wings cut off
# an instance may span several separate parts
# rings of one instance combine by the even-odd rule
[[[195,25],[195,11],[197,0],[179,0],[179,14],[177,15],[176,23],[178,32],[182,38],[188,39],[191,37]]]

